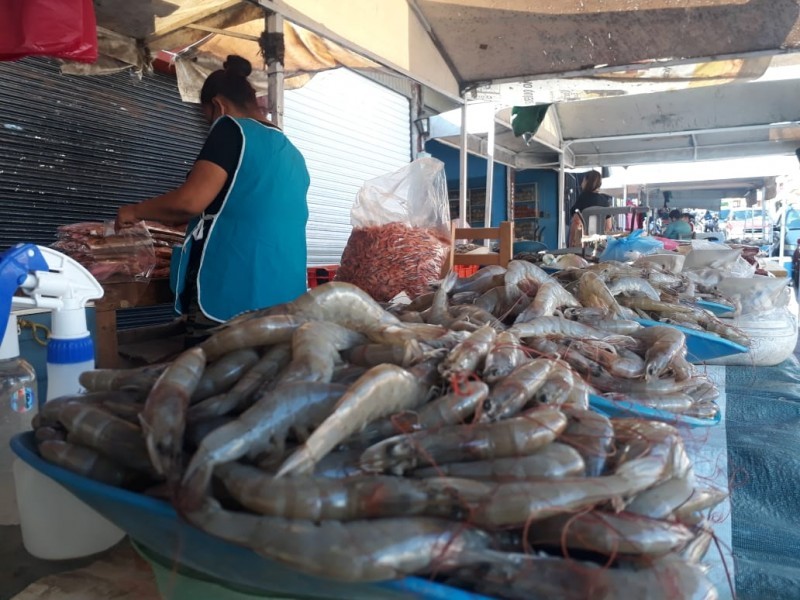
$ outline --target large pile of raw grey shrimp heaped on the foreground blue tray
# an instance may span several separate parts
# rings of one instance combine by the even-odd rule
[[[442,299],[455,283],[436,292],[438,324],[329,283],[168,364],[86,372],[87,393],[37,416],[39,451],[323,578],[715,598],[700,561],[724,494],[696,480],[678,430],[590,410],[570,363],[529,345],[611,337],[644,354],[643,384],[681,380],[683,349],[553,316],[498,333]]]

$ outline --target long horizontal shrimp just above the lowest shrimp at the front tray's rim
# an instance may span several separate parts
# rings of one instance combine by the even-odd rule
[[[215,475],[242,506],[272,517],[352,521],[415,515],[447,517],[459,510],[457,498],[441,489],[431,491],[426,481],[418,479],[376,475],[275,479],[238,463],[218,466]]]

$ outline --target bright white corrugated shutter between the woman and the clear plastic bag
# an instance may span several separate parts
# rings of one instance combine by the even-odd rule
[[[338,264],[359,188],[410,160],[408,100],[345,69],[315,75],[285,100],[284,130],[311,174],[308,263]]]

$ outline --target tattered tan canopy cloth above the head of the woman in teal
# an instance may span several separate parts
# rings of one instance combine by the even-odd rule
[[[65,63],[68,74],[144,70],[160,51],[173,57],[184,100],[197,101],[199,88],[229,54],[263,65],[266,12],[241,0],[95,0],[100,58],[94,64]],[[279,50],[278,50],[279,51]],[[285,87],[300,87],[313,73],[335,67],[384,70],[355,52],[288,21],[283,23]],[[266,73],[254,72],[259,91]]]

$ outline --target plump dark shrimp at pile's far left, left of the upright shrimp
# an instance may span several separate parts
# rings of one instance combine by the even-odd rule
[[[152,471],[142,431],[136,425],[97,406],[79,403],[64,406],[59,420],[69,432],[67,441],[97,450],[123,467]]]

